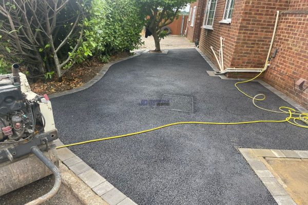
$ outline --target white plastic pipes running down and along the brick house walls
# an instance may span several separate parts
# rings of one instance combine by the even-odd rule
[[[278,25],[278,18],[279,18],[279,11],[277,11],[273,36],[272,36],[272,40],[271,40],[271,45],[269,46],[269,49],[268,49],[268,53],[267,53],[267,56],[266,56],[266,59],[265,59],[264,68],[227,68],[225,70],[221,70],[218,74],[224,74],[224,73],[229,73],[229,72],[259,72],[260,73],[260,72],[265,71],[269,66],[268,58],[269,58],[269,55],[271,55],[272,47],[273,47],[273,44],[274,44],[274,39],[275,39],[277,25]],[[222,37],[220,37],[220,42],[222,44]],[[214,52],[213,47],[211,47],[211,49]],[[215,54],[215,52],[214,52],[214,54]],[[215,56],[216,56],[216,54],[215,54]],[[216,60],[218,61],[217,57],[216,57]],[[222,59],[222,61],[223,61],[223,59]],[[218,61],[218,63],[219,63],[219,61]]]

